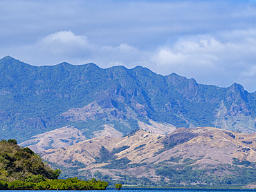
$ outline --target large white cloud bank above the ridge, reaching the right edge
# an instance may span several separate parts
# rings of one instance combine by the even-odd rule
[[[256,81],[256,29],[217,35],[183,37],[152,54],[152,68],[193,77],[199,83],[230,86],[235,81],[253,88]],[[250,90],[255,91],[255,90]]]

